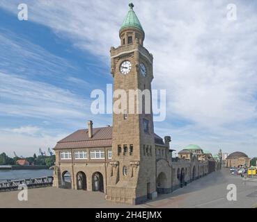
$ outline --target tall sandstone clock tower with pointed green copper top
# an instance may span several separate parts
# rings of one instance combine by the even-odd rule
[[[129,6],[120,28],[120,46],[111,47],[114,114],[106,198],[136,205],[157,196],[151,97],[153,56],[143,47],[145,33],[134,5]]]

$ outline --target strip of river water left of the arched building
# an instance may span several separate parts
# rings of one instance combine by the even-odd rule
[[[49,169],[0,170],[0,182],[4,182],[6,180],[41,178],[44,176],[53,176],[53,171]]]

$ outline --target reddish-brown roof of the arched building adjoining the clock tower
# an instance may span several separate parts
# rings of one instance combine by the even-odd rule
[[[155,143],[163,144],[162,138],[155,134]],[[112,144],[112,127],[93,128],[93,137],[88,137],[88,129],[77,130],[57,142],[54,149],[110,147]]]

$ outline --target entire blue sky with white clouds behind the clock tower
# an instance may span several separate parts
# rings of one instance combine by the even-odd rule
[[[29,20],[19,21],[26,3]],[[109,49],[128,1],[0,1],[0,153],[38,154],[93,119],[93,89],[112,83]],[[228,19],[228,4],[237,19]],[[154,89],[166,89],[155,132],[180,150],[257,156],[257,3],[254,0],[137,0],[154,56]]]

